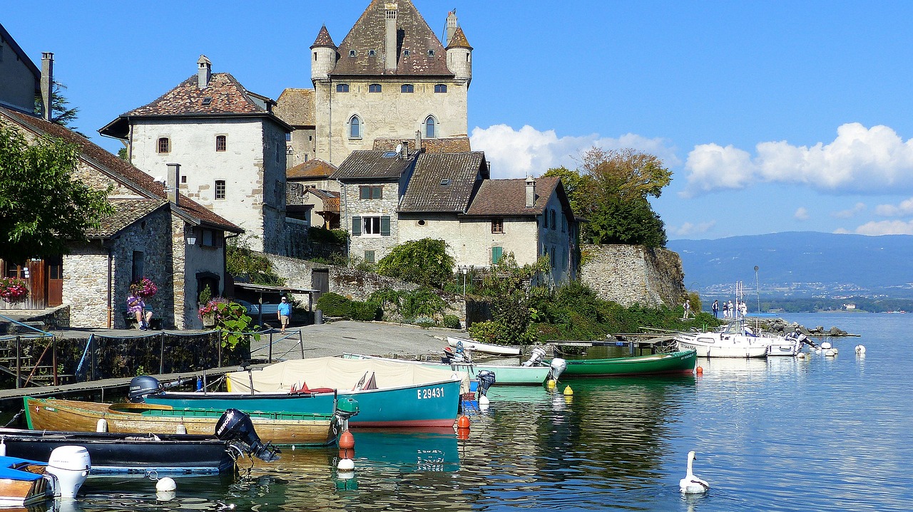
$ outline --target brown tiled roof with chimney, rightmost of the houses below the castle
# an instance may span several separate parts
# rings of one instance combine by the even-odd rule
[[[527,208],[526,179],[486,179],[479,187],[466,214],[478,217],[540,215],[542,210],[545,210],[545,204],[551,198],[551,194],[560,187],[560,184],[561,179],[557,177],[537,178],[535,205]]]

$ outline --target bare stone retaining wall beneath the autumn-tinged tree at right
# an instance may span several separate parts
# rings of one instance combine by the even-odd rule
[[[583,245],[581,281],[599,297],[624,306],[674,307],[685,295],[676,252],[640,245]]]

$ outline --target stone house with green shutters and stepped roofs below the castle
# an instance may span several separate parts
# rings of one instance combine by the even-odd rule
[[[482,152],[407,149],[353,151],[333,178],[351,256],[379,261],[395,245],[431,238],[446,241],[457,267],[488,268],[509,252],[520,265],[548,255],[548,282],[576,277],[578,220],[561,179],[490,179]]]

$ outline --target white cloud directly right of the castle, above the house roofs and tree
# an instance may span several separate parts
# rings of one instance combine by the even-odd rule
[[[675,148],[663,138],[645,138],[629,133],[619,138],[603,138],[598,134],[583,137],[558,137],[555,130],[540,131],[529,125],[514,129],[508,125],[473,128],[469,136],[472,148],[485,151],[491,162],[492,178],[524,178],[540,176],[554,167],[576,169],[577,159],[593,146],[606,149],[635,148],[656,155],[666,167],[681,164]]]

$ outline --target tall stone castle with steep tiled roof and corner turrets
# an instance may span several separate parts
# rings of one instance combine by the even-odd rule
[[[340,165],[354,150],[373,149],[375,139],[416,132],[468,140],[472,46],[456,12],[447,15],[442,42],[410,0],[372,0],[339,46],[321,27],[310,54],[314,88],[280,96],[279,116],[303,130],[291,135],[294,161],[312,150]]]

